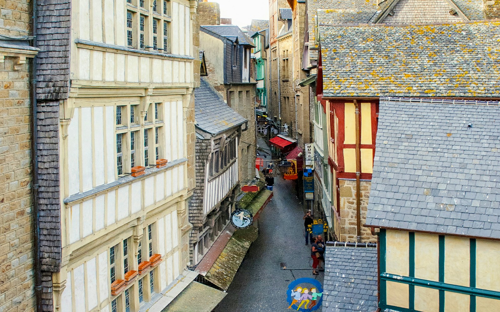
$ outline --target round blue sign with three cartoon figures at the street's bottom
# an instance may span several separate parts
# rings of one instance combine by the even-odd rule
[[[288,309],[296,311],[316,311],[323,302],[321,283],[310,278],[301,278],[291,282],[286,292]]]

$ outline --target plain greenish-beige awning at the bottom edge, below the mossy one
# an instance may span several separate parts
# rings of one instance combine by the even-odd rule
[[[210,312],[225,295],[219,290],[193,281],[161,312]]]

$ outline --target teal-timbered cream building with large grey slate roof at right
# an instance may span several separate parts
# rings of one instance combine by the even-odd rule
[[[378,307],[500,311],[500,103],[379,105],[366,219],[380,229]]]

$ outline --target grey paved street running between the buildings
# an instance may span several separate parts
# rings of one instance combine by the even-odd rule
[[[266,148],[260,137],[258,143]],[[309,277],[322,283],[323,272],[314,276],[311,269],[280,269],[281,263],[287,269],[309,269],[312,259],[310,245],[304,246],[304,208],[295,198],[294,182],[277,176],[273,191],[272,201],[260,212],[256,221],[258,238],[248,250],[227,290],[227,296],[215,312],[286,311],[286,290],[291,281]]]

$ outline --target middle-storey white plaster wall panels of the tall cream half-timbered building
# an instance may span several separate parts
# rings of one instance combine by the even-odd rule
[[[134,103],[134,101],[131,102]],[[122,118],[130,120],[128,112],[130,105],[123,104],[123,102],[117,103],[118,107],[123,107]],[[156,150],[153,149],[156,147],[159,158],[167,159],[169,163],[175,163],[175,161],[179,163],[147,177],[138,177],[129,183],[118,184],[105,191],[92,193],[88,198],[83,197],[66,203],[63,219],[66,244],[63,246],[74,243],[76,246],[84,245],[87,240],[78,241],[101,230],[105,233],[107,231],[105,228],[114,223],[126,223],[128,219],[134,218],[134,214],[138,211],[154,209],[163,204],[165,199],[176,196],[176,193],[186,187],[184,179],[186,163],[182,161],[185,157],[182,101],[165,101],[152,103],[152,105],[149,106],[150,118],[153,118],[152,115],[156,115],[157,118],[155,116],[150,123],[154,124],[154,129],[158,129],[158,138],[157,141],[156,137],[149,138],[148,145],[151,148],[149,158],[152,157],[150,165],[154,164],[156,155],[153,151],[156,152]],[[124,162],[120,176],[126,176],[130,172],[130,164],[128,168],[125,168],[127,166],[125,162],[130,162],[130,159],[126,160],[125,154],[129,148],[131,132],[137,133],[135,135],[136,165],[144,166],[144,162],[140,159],[144,154],[144,144],[139,138],[143,138],[143,131],[146,128],[141,130],[140,125],[132,124],[133,126],[129,129],[121,129],[126,127],[116,125],[116,107],[113,105],[74,108],[73,119],[67,127],[67,140],[63,140],[67,142],[68,151],[67,168],[63,170],[67,172],[67,175],[64,175],[67,178],[64,197],[88,192],[97,187],[106,187],[118,180],[117,134],[122,136]],[[162,111],[155,114],[155,108]],[[130,131],[130,129],[136,129],[136,131]],[[151,129],[153,128],[149,128],[149,136],[153,134]],[[151,146],[156,142],[154,147]],[[136,196],[137,194],[139,196]],[[90,239],[94,238],[95,235],[90,237]]]

